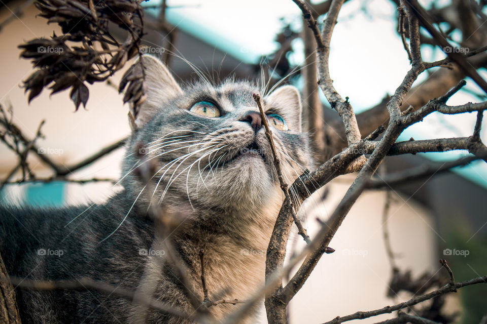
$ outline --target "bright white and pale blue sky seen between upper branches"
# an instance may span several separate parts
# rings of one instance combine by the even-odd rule
[[[428,6],[429,2],[420,3]],[[168,0],[167,4],[174,7],[166,14],[171,24],[247,63],[258,63],[262,55],[276,49],[274,37],[285,23],[291,23],[296,30],[300,29],[301,23],[301,12],[291,0]],[[374,106],[386,94],[394,93],[410,68],[395,30],[395,10],[389,0],[355,1],[345,3],[338,16],[330,45],[330,75],[336,90],[343,97],[350,97],[357,113]],[[290,60],[299,64],[304,59],[301,41],[296,40],[293,48],[295,53]],[[441,51],[431,47],[424,47],[422,52],[425,61],[445,57]],[[484,70],[480,73],[487,77]],[[416,84],[426,77],[426,73],[420,75]],[[481,93],[470,79],[467,79],[467,88]],[[322,99],[326,101],[324,97]],[[461,92],[448,104],[469,101],[479,100]],[[422,123],[407,129],[399,140],[470,136],[475,117],[475,113],[433,113]],[[481,137],[487,139],[485,128]],[[465,154],[452,151],[425,155],[434,160],[450,160]],[[456,172],[487,187],[487,165],[483,162]]]

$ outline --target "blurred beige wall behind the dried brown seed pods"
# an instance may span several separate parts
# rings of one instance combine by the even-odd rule
[[[18,3],[9,3],[9,9],[14,10]],[[3,21],[10,11],[0,13]],[[47,25],[44,18],[35,16],[38,10],[30,6],[25,10],[20,20],[14,20],[0,31],[0,103],[7,107],[10,103],[14,108],[14,122],[22,131],[32,138],[42,119],[46,119],[43,127],[45,140],[37,144],[40,147],[56,149],[62,154],[53,157],[59,163],[70,164],[96,152],[101,147],[111,144],[129,133],[127,122],[127,107],[122,105],[122,96],[104,84],[88,86],[90,97],[86,109],[81,107],[74,112],[74,104],[69,99],[69,91],[64,91],[49,97],[49,91],[33,99],[27,104],[27,97],[21,89],[22,80],[32,72],[29,61],[19,58],[20,50],[17,46],[23,41],[35,37],[59,34],[57,25]],[[123,74],[119,71],[113,80],[118,80]],[[0,145],[0,174],[5,174],[16,164],[15,156],[4,145]],[[83,170],[75,176],[117,177],[117,159],[105,159],[89,170]],[[43,173],[43,166],[32,160],[31,166],[37,173]]]

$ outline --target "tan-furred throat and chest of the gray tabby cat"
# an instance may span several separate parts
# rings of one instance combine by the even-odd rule
[[[211,300],[245,300],[264,284],[266,249],[283,201],[281,189],[276,188],[262,206],[201,211],[198,220],[174,238],[192,270],[193,291],[198,298],[203,298],[201,250]],[[218,305],[211,312],[221,319],[235,307],[238,305]]]

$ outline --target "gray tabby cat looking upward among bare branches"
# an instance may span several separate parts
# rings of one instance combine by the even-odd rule
[[[132,123],[123,190],[93,206],[0,207],[0,252],[7,271],[29,279],[90,277],[132,291],[145,276],[152,278],[149,289],[155,298],[194,313],[164,253],[141,253],[151,251],[155,237],[154,223],[146,217],[154,196],[161,206],[185,215],[170,239],[189,269],[197,298],[203,300],[199,251],[204,249],[210,299],[245,300],[263,285],[265,251],[283,201],[252,98],[262,92],[249,82],[232,80],[218,87],[203,81],[182,89],[159,60],[142,60],[147,100]],[[308,138],[301,132],[299,93],[283,86],[264,96],[263,105],[284,177],[292,183],[311,164]],[[155,189],[145,193],[147,183],[133,171],[141,164],[140,143],[145,163],[154,162],[157,170]],[[162,258],[162,270],[157,258]],[[126,299],[92,290],[17,288],[16,293],[23,323],[126,323],[137,310]],[[220,304],[210,312],[222,319],[236,307]],[[147,322],[189,320],[151,311]]]

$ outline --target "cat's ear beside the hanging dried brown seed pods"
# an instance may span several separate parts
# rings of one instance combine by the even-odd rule
[[[143,55],[140,58],[144,67],[146,100],[137,107],[130,106],[130,126],[132,131],[144,127],[162,109],[162,104],[183,93],[167,67],[156,57]],[[137,61],[135,63],[138,62]]]

